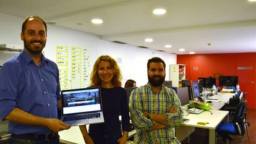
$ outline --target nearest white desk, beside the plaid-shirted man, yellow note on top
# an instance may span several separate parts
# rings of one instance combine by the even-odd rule
[[[215,143],[215,129],[226,118],[228,121],[228,111],[212,110],[212,114],[208,111],[204,111],[201,114],[189,114],[184,118],[190,119],[186,124],[182,124],[186,127],[198,127],[203,129],[209,129],[209,144]],[[197,122],[208,122],[206,125],[197,124]]]

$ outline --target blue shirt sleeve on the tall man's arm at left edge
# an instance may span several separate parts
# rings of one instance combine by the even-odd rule
[[[4,121],[17,106],[19,72],[13,63],[5,63],[0,69],[0,118]]]

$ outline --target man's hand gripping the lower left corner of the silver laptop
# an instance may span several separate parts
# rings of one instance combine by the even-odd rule
[[[46,127],[49,129],[53,130],[53,132],[59,132],[61,130],[67,130],[70,128],[70,126],[59,119],[47,119],[46,122]]]

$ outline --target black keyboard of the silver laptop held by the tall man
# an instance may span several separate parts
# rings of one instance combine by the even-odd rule
[[[95,119],[100,117],[100,112],[90,113],[90,114],[79,114],[74,116],[65,116],[63,121],[75,121],[80,119]]]

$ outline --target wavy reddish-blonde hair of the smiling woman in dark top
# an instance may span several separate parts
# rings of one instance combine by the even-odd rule
[[[93,70],[92,70],[92,74],[91,74],[91,85],[95,86],[95,87],[101,86],[101,80],[98,75],[98,69],[99,69],[101,61],[109,62],[110,66],[114,70],[114,76],[111,80],[113,87],[115,87],[115,88],[121,87],[121,85],[122,85],[121,70],[119,69],[119,66],[117,65],[116,60],[114,60],[111,56],[107,56],[107,55],[100,56],[100,57],[98,57],[98,59],[96,59],[94,65],[93,65]]]

